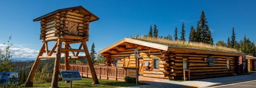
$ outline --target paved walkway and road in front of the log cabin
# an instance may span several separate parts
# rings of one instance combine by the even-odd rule
[[[207,78],[202,80],[193,81],[169,81],[160,78],[150,78],[150,77],[139,77],[139,82],[147,83],[149,85],[138,85],[129,87],[210,87],[217,85],[225,85],[231,83],[238,83],[244,81],[256,80],[256,73],[249,75],[238,75],[229,77],[218,77],[218,78]]]

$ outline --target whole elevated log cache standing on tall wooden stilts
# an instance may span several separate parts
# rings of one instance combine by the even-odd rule
[[[43,41],[43,45],[31,68],[25,86],[33,87],[32,80],[41,59],[55,58],[51,87],[58,87],[61,53],[65,54],[66,70],[69,70],[69,59],[87,58],[92,73],[93,84],[99,83],[86,45],[86,41],[89,40],[89,23],[96,20],[99,20],[99,17],[87,11],[83,6],[59,9],[33,20],[34,22],[41,21],[40,39]],[[56,42],[50,50],[47,45],[49,41]],[[64,48],[62,48],[62,43]],[[70,47],[72,43],[81,43],[81,45],[78,49],[72,49]],[[81,49],[82,47],[83,49]],[[73,54],[72,57],[69,56],[69,52]],[[85,52],[86,56],[78,56],[79,52]],[[52,56],[53,53],[56,55]]]

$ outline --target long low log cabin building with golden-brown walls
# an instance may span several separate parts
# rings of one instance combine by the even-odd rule
[[[135,67],[134,49],[138,49],[139,75],[181,79],[183,70],[190,69],[191,78],[232,75],[239,73],[239,52],[216,51],[124,38],[99,51],[108,66]]]

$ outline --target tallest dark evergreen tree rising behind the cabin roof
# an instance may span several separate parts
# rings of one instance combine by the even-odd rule
[[[211,30],[207,25],[207,21],[205,18],[204,11],[202,11],[199,21],[197,21],[197,28],[196,28],[196,35],[197,39],[196,42],[203,42],[213,44],[213,39],[211,36]]]

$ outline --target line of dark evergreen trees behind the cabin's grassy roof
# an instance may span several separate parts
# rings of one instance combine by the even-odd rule
[[[190,33],[188,37],[188,41],[190,42],[203,42],[210,45],[214,45],[213,38],[211,35],[211,30],[209,29],[209,25],[207,24],[208,21],[206,21],[205,13],[202,11],[199,20],[197,21],[197,27],[194,29],[193,25],[190,27]],[[181,36],[178,38],[178,29],[177,27],[174,30],[174,36],[170,34],[167,34],[167,36],[159,36],[158,35],[158,29],[156,24],[154,25],[154,30],[152,29],[152,26],[150,25],[150,29],[147,35],[144,35],[144,37],[153,37],[153,38],[161,38],[161,39],[167,39],[167,40],[176,40],[176,41],[187,41],[185,39],[185,24],[182,22],[181,25]],[[228,48],[234,48],[238,51],[241,51],[245,53],[246,55],[256,56],[256,47],[254,45],[254,41],[250,41],[249,38],[246,38],[244,35],[244,39],[237,41],[235,36],[235,30],[233,27],[233,30],[231,31],[231,37],[228,37],[227,42],[224,41],[217,41],[215,43],[216,46],[223,46]]]

